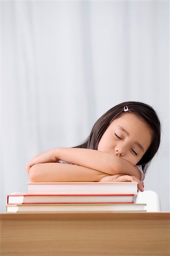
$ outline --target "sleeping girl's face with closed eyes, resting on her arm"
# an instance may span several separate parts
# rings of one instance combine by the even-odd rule
[[[98,150],[119,156],[135,166],[152,141],[152,130],[137,115],[125,113],[113,120],[102,135]]]

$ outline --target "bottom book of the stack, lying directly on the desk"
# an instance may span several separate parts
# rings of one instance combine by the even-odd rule
[[[16,204],[7,212],[146,212],[146,204]]]

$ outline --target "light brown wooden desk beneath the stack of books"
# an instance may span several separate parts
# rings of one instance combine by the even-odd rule
[[[4,213],[1,256],[170,255],[169,213]]]

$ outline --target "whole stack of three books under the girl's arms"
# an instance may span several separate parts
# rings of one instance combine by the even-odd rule
[[[145,212],[136,182],[27,183],[28,193],[7,195],[7,212]]]

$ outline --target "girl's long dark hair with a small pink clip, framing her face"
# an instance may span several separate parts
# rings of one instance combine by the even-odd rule
[[[153,133],[150,147],[137,164],[142,165],[143,171],[146,172],[148,163],[150,163],[151,159],[154,157],[159,148],[161,128],[159,117],[157,116],[155,110],[151,106],[142,102],[127,101],[108,110],[97,120],[96,123],[94,123],[92,131],[86,141],[76,147],[97,150],[98,143],[102,138],[102,135],[105,133],[107,127],[109,127],[110,123],[115,118],[125,114],[125,106],[128,107],[128,113],[134,113],[138,115],[138,117],[142,118],[150,126]]]

